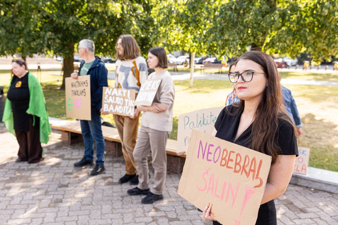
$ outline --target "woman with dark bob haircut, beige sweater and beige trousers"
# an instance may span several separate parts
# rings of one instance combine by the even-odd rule
[[[148,79],[161,78],[161,84],[156,92],[151,106],[137,106],[143,111],[141,130],[134,149],[134,159],[139,174],[139,184],[127,191],[129,195],[146,195],[143,204],[162,200],[162,191],[167,173],[166,144],[172,131],[172,112],[175,89],[168,68],[166,52],[161,47],[155,47],[148,52],[149,68],[155,69]],[[154,172],[154,184],[149,189],[149,168],[147,156],[151,151]]]

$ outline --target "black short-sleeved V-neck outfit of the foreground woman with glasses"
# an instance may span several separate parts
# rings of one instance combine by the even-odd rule
[[[220,112],[215,122],[215,129],[217,130],[216,137],[241,145],[243,147],[250,148],[250,135],[252,130],[252,124],[250,124],[248,128],[235,141],[239,121],[243,113],[243,109],[238,112],[237,110],[238,108],[234,107],[233,105],[229,105]],[[281,154],[298,156],[297,139],[292,126],[282,120],[278,122],[278,126],[278,144],[282,149]],[[219,225],[220,223],[213,221],[213,224]],[[276,224],[276,208],[274,205],[274,201],[271,200],[262,204],[259,207],[256,225]]]

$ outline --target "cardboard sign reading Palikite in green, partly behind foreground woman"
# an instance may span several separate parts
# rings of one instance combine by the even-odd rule
[[[196,110],[178,116],[177,152],[187,152],[192,129],[210,134],[224,106]]]

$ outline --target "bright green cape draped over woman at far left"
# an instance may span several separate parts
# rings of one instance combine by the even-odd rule
[[[8,89],[9,88],[10,83]],[[40,142],[47,144],[49,140],[48,135],[51,134],[51,128],[48,120],[46,101],[38,79],[30,72],[28,72],[28,89],[30,97],[29,107],[26,113],[40,117]],[[33,118],[33,123],[35,123],[35,117]],[[12,104],[8,99],[6,99],[2,122],[5,123],[6,129],[15,135]]]

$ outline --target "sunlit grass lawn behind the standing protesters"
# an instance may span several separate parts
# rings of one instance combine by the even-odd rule
[[[288,78],[315,76],[312,73],[303,73],[302,76],[293,72],[283,73],[286,73],[283,77],[289,76]],[[59,75],[60,71],[44,71],[42,87],[49,115],[69,119],[65,114],[65,91],[59,89],[62,82],[62,76]],[[335,76],[335,73],[333,75]],[[325,78],[331,75],[321,74],[320,76]],[[0,86],[4,86],[5,93],[9,80],[8,71],[0,71]],[[109,86],[113,86],[114,82],[108,80]],[[189,88],[188,81],[175,81],[174,84],[176,96],[171,139],[177,138],[178,115],[222,106],[231,91],[231,83],[228,81],[195,80],[193,88]],[[311,148],[310,166],[338,171],[338,88],[317,85],[286,85],[286,87],[292,91],[304,123],[303,135],[299,137],[299,146]],[[112,115],[105,115],[103,118],[114,124]]]

